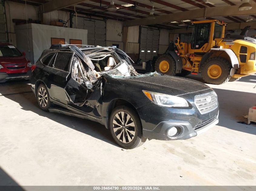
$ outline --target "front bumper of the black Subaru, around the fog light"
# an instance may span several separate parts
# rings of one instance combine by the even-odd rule
[[[148,139],[157,140],[183,140],[194,137],[215,126],[218,122],[219,108],[200,114],[196,108],[191,109],[171,109],[159,108],[155,104],[148,104],[138,108],[139,116],[143,128],[143,136]],[[145,115],[151,110],[150,117]],[[168,136],[171,127],[179,126],[182,132],[173,138]]]

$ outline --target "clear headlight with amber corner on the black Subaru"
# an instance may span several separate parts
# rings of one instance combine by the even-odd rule
[[[144,94],[157,105],[163,107],[188,107],[188,102],[182,97],[144,91]]]

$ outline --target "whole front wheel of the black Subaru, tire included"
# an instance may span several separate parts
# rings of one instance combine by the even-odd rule
[[[121,112],[124,112],[124,117],[121,117]],[[131,120],[129,119],[127,120],[127,118],[129,117],[125,113],[131,116]],[[119,119],[116,117],[116,115],[119,116]],[[125,116],[127,121],[125,120]],[[114,119],[115,119],[115,122],[114,122]],[[125,125],[127,126],[125,128],[121,127],[123,123],[122,121],[120,121],[120,119],[124,121],[124,123],[126,123]],[[118,124],[120,125],[116,125],[116,122],[118,122]],[[134,124],[135,128],[131,128],[131,126],[133,125],[129,126],[130,124]],[[114,138],[115,142],[125,149],[132,149],[132,148],[139,147],[147,140],[147,138],[143,137],[141,120],[138,114],[134,110],[132,110],[130,107],[127,107],[124,105],[116,107],[111,113],[110,120],[109,120],[109,127],[110,127],[111,135]],[[116,131],[114,131],[114,127],[117,127],[118,129],[115,129]],[[133,129],[135,129],[135,133]],[[134,133],[134,135],[132,135],[131,132]],[[117,137],[118,135],[120,135],[119,139]],[[120,139],[123,140],[124,138],[123,136],[125,137],[125,140],[121,141]],[[130,137],[131,141],[128,139],[128,136]]]

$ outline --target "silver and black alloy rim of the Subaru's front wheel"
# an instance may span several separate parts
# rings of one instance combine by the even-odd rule
[[[124,112],[118,112],[113,119],[115,136],[123,143],[130,143],[135,137],[135,123],[131,116]]]

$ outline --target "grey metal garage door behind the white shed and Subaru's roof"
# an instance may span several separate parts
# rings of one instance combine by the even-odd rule
[[[73,28],[76,28],[76,17],[73,17]],[[88,20],[86,18],[77,18],[77,28],[88,30],[87,44],[105,46],[105,21]]]

